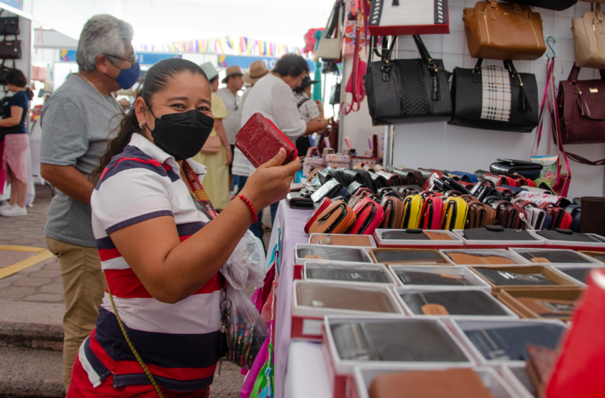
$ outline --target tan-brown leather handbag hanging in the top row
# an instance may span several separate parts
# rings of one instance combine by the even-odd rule
[[[530,6],[479,1],[463,21],[473,58],[537,60],[546,51],[542,19]]]

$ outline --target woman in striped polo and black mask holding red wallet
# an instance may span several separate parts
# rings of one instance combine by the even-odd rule
[[[207,396],[219,360],[219,270],[250,227],[253,209],[285,198],[300,168],[298,158],[281,165],[282,149],[214,219],[187,182],[206,173],[187,159],[204,144],[211,116],[201,68],[162,60],[147,71],[140,97],[91,175],[107,291],[75,360],[68,398]]]

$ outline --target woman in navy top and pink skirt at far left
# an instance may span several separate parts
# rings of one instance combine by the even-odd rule
[[[11,198],[9,203],[0,206],[0,215],[13,217],[27,215],[25,155],[29,147],[29,139],[25,122],[33,91],[27,87],[27,79],[21,70],[11,70],[6,73],[4,79],[6,87],[14,92],[14,95],[4,104],[0,120],[0,134],[4,136],[2,163],[6,170],[6,182],[11,184]]]

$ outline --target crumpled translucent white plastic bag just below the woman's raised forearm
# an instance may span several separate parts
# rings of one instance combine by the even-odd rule
[[[243,290],[246,285],[262,287],[265,279],[263,242],[250,230],[246,230],[231,257],[221,268],[221,273],[233,289]]]

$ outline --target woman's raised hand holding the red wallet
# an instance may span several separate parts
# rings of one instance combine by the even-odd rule
[[[282,166],[285,154],[282,148],[274,158],[258,166],[241,190],[257,211],[282,200],[290,192],[290,183],[300,170],[300,158]]]

